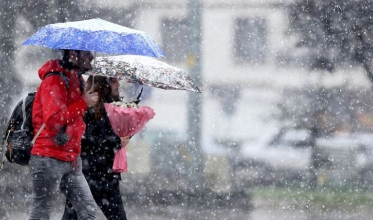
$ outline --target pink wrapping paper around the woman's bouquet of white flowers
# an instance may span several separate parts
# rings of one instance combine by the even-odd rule
[[[120,137],[138,133],[155,115],[154,110],[147,106],[123,108],[109,103],[104,105],[111,127],[113,127],[115,134]],[[113,172],[127,172],[127,150],[125,146],[122,146],[115,154]]]

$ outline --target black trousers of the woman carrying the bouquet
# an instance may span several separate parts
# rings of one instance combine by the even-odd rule
[[[92,195],[108,220],[126,220],[122,197],[119,189],[119,179],[101,181],[86,176]],[[62,220],[78,219],[77,212],[72,208],[71,203],[66,199],[65,212]]]

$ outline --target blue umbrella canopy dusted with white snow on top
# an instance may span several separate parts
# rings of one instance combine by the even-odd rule
[[[100,18],[44,26],[27,38],[22,45],[108,54],[165,56],[160,46],[146,32]]]

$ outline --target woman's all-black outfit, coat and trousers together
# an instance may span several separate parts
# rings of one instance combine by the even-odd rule
[[[111,128],[103,103],[100,108],[103,114],[98,121],[95,120],[94,109],[89,109],[84,115],[86,130],[82,138],[81,154],[83,173],[106,218],[126,220],[119,188],[120,173],[113,173],[111,169],[115,151],[121,148],[121,141]],[[78,219],[77,212],[67,200],[62,219]]]

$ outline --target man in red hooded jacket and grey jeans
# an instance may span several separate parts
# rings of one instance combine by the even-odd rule
[[[49,219],[58,189],[69,199],[79,219],[96,219],[96,204],[82,173],[83,115],[98,101],[97,92],[83,92],[82,73],[91,69],[90,51],[64,50],[39,69],[42,79],[32,106],[34,134],[45,125],[31,150],[32,209],[29,219]],[[60,72],[45,77],[50,72]],[[45,77],[45,78],[44,78]],[[58,138],[60,137],[60,138]]]

